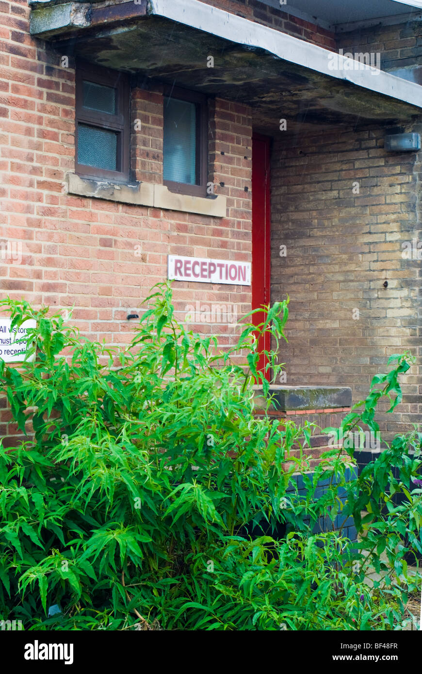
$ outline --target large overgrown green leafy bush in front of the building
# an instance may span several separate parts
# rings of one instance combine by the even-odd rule
[[[254,335],[270,330],[277,345],[287,302],[259,328],[244,322],[224,353],[175,320],[168,285],[146,302],[124,349],[82,339],[45,307],[2,303],[13,325],[37,321],[36,360],[0,361],[13,419],[34,431],[0,448],[3,619],[27,630],[400,629],[418,580],[404,557],[422,553],[422,483],[412,482],[421,435],[397,437],[351,481],[353,448],[346,460],[325,452],[310,474],[291,449],[305,448],[311,429],[253,415],[252,384],[268,393]],[[392,409],[400,402],[410,357],[393,358],[343,433],[376,430],[382,396],[396,396]],[[353,516],[359,543],[336,530],[339,514]],[[315,533],[321,517],[332,530]],[[383,579],[373,589],[369,567]]]

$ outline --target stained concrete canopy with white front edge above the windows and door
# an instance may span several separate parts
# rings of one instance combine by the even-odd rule
[[[31,33],[71,55],[253,106],[256,127],[280,118],[356,125],[409,123],[422,114],[422,88],[374,69],[330,69],[332,53],[198,0],[42,3]],[[208,57],[214,67],[208,67]],[[355,67],[355,66],[354,66]]]

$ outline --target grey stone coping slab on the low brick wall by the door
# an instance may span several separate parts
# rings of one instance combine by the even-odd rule
[[[260,386],[254,387],[255,406],[266,408]],[[347,386],[270,386],[271,408],[280,412],[351,407],[352,390]]]

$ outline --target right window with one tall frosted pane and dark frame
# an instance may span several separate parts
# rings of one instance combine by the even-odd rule
[[[164,185],[171,191],[206,196],[208,117],[202,94],[177,88],[164,92],[163,162]]]

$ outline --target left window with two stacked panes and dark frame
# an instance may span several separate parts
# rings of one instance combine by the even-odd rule
[[[76,70],[76,173],[129,179],[127,75],[96,65]]]

